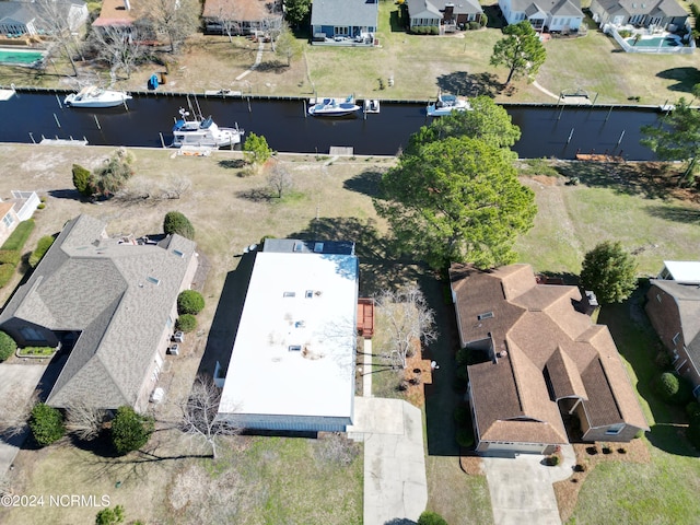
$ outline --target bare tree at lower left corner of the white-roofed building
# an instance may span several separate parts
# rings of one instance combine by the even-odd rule
[[[191,438],[203,440],[217,458],[217,441],[224,435],[236,435],[241,429],[217,418],[221,390],[208,376],[198,375],[189,398],[183,402],[180,430]]]

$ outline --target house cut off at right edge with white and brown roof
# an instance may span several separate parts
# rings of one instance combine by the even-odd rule
[[[646,314],[700,398],[700,261],[666,260],[650,284]]]

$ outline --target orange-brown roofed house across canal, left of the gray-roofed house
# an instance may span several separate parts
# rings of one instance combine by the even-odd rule
[[[282,1],[207,0],[201,18],[208,33],[252,35],[282,26]]]

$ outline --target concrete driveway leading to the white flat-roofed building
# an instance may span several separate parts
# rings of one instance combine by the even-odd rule
[[[364,441],[364,525],[417,521],[428,503],[421,411],[400,399],[354,398],[348,436]]]

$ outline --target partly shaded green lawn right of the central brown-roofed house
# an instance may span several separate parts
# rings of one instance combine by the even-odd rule
[[[653,364],[658,346],[641,307],[638,293],[621,305],[605,306],[599,322],[609,326],[642,397],[652,429],[645,439],[652,460],[597,465],[586,477],[572,524],[696,524],[700,516],[700,453],[685,439],[684,411],[665,405],[651,392],[650,383],[660,372]]]

